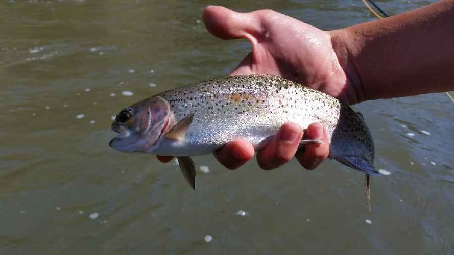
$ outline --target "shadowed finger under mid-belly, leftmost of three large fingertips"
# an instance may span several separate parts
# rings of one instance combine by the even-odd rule
[[[214,157],[226,168],[233,170],[254,157],[254,147],[245,140],[235,140],[227,143],[214,152]]]

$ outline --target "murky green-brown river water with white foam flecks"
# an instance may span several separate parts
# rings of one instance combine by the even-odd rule
[[[389,14],[431,1],[377,1]],[[454,104],[445,94],[356,105],[375,140],[363,174],[327,160],[236,171],[108,146],[112,115],[225,75],[250,50],[205,31],[202,10],[271,8],[322,29],[375,19],[361,1],[2,1],[1,254],[452,254]],[[209,172],[207,172],[209,170]]]

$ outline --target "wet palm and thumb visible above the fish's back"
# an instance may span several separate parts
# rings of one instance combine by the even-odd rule
[[[221,6],[206,7],[203,21],[214,36],[251,42],[252,52],[231,75],[277,75],[344,103],[357,103],[356,89],[342,69],[346,61],[342,54],[339,61],[334,50],[338,47],[331,42],[340,40],[336,31],[323,31],[272,10],[238,13]]]

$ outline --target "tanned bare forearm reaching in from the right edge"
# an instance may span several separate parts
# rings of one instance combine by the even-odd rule
[[[350,101],[454,90],[454,0],[331,31]]]

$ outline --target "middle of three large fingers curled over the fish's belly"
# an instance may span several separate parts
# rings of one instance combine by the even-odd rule
[[[258,152],[258,165],[262,169],[271,170],[285,164],[295,155],[302,136],[303,130],[298,124],[283,124],[271,142]]]

